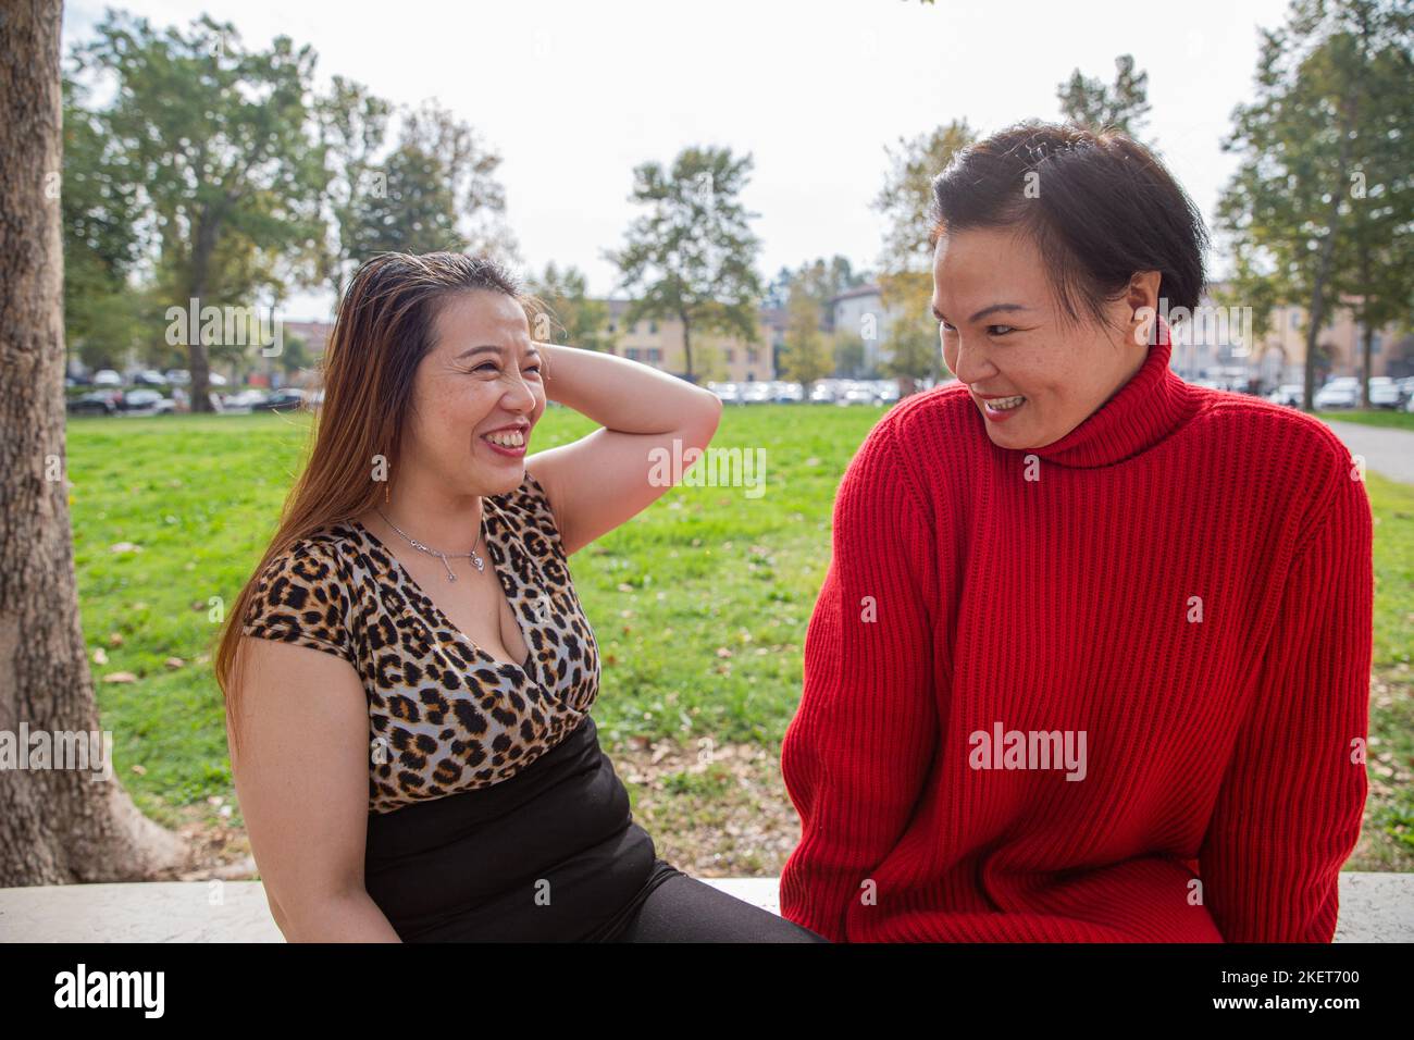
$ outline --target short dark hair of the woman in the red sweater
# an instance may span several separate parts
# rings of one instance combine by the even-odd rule
[[[932,242],[1017,226],[1045,262],[1066,314],[1104,324],[1135,272],[1159,272],[1168,308],[1192,313],[1208,231],[1192,200],[1138,141],[1106,129],[1027,120],[963,149],[933,178]]]

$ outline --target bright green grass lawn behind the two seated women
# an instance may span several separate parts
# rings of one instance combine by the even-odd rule
[[[881,415],[728,408],[713,446],[769,446],[765,495],[677,487],[571,557],[604,664],[594,715],[605,747],[665,739],[690,747],[703,737],[779,747],[799,702],[834,491]],[[591,429],[574,412],[550,409],[536,450]],[[102,648],[107,657],[93,665],[103,727],[115,734],[115,767],[127,790],[168,826],[208,799],[233,801],[221,693],[205,659],[216,631],[212,603],[235,601],[274,533],[305,432],[305,417],[280,415],[68,424],[83,632],[90,655]],[[1366,838],[1350,866],[1414,869],[1414,488],[1370,474],[1369,491],[1377,522],[1377,743]],[[137,548],[115,550],[122,543]],[[137,681],[103,681],[115,672]],[[667,790],[701,782],[684,773]],[[785,798],[782,788],[776,797]]]

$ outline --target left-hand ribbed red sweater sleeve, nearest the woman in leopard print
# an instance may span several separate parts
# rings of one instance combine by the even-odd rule
[[[802,828],[782,870],[781,913],[834,942],[847,938],[846,914],[870,870],[902,835],[937,741],[929,597],[937,565],[894,436],[891,423],[875,426],[840,483],[800,706],[781,750]]]

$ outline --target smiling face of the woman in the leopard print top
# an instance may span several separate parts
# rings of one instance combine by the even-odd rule
[[[448,297],[413,378],[403,451],[440,487],[513,491],[525,478],[530,427],[544,413],[542,364],[515,299],[481,289]]]

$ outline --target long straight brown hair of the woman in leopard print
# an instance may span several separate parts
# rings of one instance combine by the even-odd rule
[[[433,347],[441,304],[469,290],[505,293],[542,313],[499,263],[465,253],[382,253],[365,262],[339,301],[334,331],[320,364],[324,403],[310,423],[308,464],[280,511],[280,524],[215,637],[216,683],[226,699],[235,740],[240,689],[238,654],[242,621],[260,573],[297,541],[370,509],[395,478],[403,423],[411,409],[413,376]],[[386,478],[375,463],[382,457]]]

